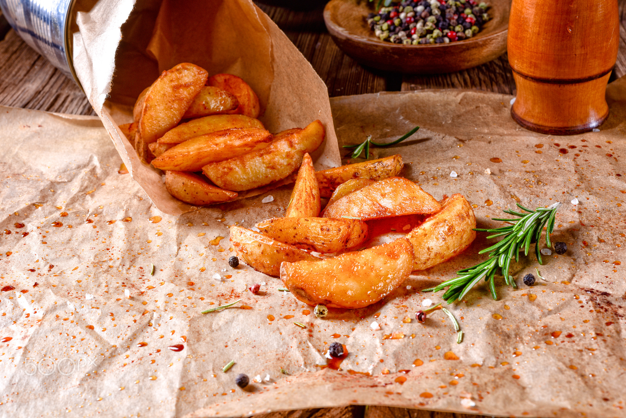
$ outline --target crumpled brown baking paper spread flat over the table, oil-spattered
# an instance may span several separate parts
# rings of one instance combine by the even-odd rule
[[[497,301],[481,283],[448,306],[461,344],[442,311],[424,324],[414,315],[426,298],[441,301],[423,288],[484,258],[478,251],[493,242],[485,234],[375,305],[316,318],[279,291],[280,280],[228,265],[228,226],[282,216],[289,186],[170,216],[118,174],[123,160],[96,118],[0,108],[0,285],[12,287],[0,292],[3,414],[222,417],[366,404],[625,416],[625,91],[626,79],[608,87],[600,132],[571,137],[523,130],[510,118],[511,97],[494,93],[331,101],[340,144],[393,140],[420,125],[374,157],[403,155],[404,175],[438,199],[464,194],[479,227],[501,226],[490,218],[516,201],[563,203],[552,239],[567,243],[566,254],[543,266],[522,256],[511,269],[518,289],[499,278]],[[262,203],[267,196],[274,201]],[[544,280],[524,285],[535,268]],[[254,283],[258,295],[246,290]],[[348,351],[339,371],[322,368],[332,342]],[[242,390],[240,373],[261,381]]]

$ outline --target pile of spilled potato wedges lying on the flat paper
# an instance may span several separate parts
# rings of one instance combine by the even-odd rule
[[[443,263],[476,237],[474,211],[461,194],[437,201],[398,177],[402,167],[393,155],[316,172],[305,154],[285,217],[254,230],[230,226],[230,241],[240,260],[280,277],[308,305],[376,303],[412,271]],[[321,197],[329,198],[323,210]],[[386,231],[401,236],[367,246]]]

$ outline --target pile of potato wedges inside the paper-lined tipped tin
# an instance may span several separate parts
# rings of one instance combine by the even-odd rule
[[[319,120],[272,135],[259,112],[259,98],[241,78],[209,77],[181,63],[141,92],[134,122],[120,129],[142,160],[165,172],[173,197],[203,206],[286,179],[324,141]]]

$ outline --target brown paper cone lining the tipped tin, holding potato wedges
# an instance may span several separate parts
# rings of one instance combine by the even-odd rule
[[[100,0],[89,13],[78,13],[76,23],[76,74],[131,176],[161,211],[180,215],[197,208],[170,196],[161,170],[142,163],[117,126],[132,122],[140,92],[181,62],[209,75],[242,77],[259,96],[260,120],[270,132],[321,120],[326,139],[312,153],[314,165],[341,164],[326,85],[252,1]]]

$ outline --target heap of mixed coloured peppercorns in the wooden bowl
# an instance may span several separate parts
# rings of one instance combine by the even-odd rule
[[[405,45],[449,43],[474,36],[490,19],[487,4],[476,0],[403,0],[367,16],[382,41]]]

